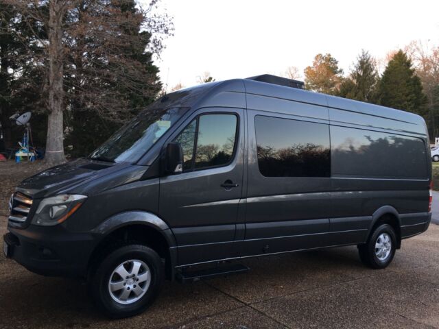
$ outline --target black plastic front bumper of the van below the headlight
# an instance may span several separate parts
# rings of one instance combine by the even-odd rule
[[[62,227],[9,228],[3,236],[8,257],[29,271],[45,276],[85,277],[95,247],[91,234],[67,232]]]

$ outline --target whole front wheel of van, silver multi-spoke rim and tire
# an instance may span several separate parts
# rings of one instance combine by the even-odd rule
[[[104,257],[89,287],[97,306],[108,317],[131,317],[154,302],[163,278],[160,256],[145,245],[131,244]]]

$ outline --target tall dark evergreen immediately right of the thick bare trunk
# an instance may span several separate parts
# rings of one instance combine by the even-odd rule
[[[108,36],[99,32],[90,39],[79,35],[74,42],[75,63],[66,81],[67,97],[71,99],[66,118],[70,128],[66,144],[73,147],[69,154],[74,157],[90,154],[124,121],[152,103],[161,90],[158,67],[152,62],[152,53],[145,51],[152,35],[141,31],[141,17],[136,19],[140,15],[136,2],[82,3],[78,6],[79,19],[100,17],[102,10],[112,15],[108,21],[119,22],[116,28],[112,25],[112,32],[121,34],[128,42],[120,42],[116,47],[105,45]],[[86,58],[82,56],[84,49],[88,49]],[[100,91],[104,95],[97,98]]]

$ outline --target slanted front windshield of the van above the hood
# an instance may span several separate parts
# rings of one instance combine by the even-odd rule
[[[154,108],[141,112],[88,157],[108,162],[136,162],[188,108]]]

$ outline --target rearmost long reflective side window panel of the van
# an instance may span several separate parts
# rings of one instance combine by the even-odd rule
[[[422,139],[331,126],[333,174],[427,178]]]

